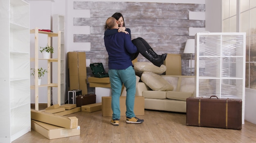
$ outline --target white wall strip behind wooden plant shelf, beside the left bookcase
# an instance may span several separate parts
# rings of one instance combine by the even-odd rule
[[[39,29],[51,29],[51,0],[28,0],[30,3],[30,29],[34,29],[38,27]],[[47,7],[47,9],[45,9]],[[35,56],[35,37],[33,34],[30,35],[30,57]],[[47,45],[47,35],[39,36],[39,47],[45,47]],[[41,54],[39,54],[42,57]],[[34,62],[31,62],[30,68],[34,68]],[[47,63],[45,61],[39,62],[39,67],[43,67],[43,69],[47,69]],[[45,78],[42,79],[41,84],[47,84],[47,74]],[[31,85],[34,85],[34,79],[31,77]],[[30,100],[31,103],[35,103],[35,90],[31,90],[30,92]],[[47,103],[47,88],[42,87],[39,89],[39,103]]]

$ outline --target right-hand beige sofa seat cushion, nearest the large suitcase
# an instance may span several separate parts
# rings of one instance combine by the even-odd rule
[[[186,101],[187,98],[191,97],[193,93],[178,92],[178,91],[166,91],[166,98],[173,100]]]

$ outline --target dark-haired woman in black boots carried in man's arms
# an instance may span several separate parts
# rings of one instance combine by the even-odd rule
[[[121,13],[114,13],[112,17],[114,17],[119,23],[118,32],[122,32],[125,30],[124,32],[126,32],[126,34],[129,34],[131,37],[130,29],[125,27],[123,15]],[[108,32],[108,33],[113,32],[113,30],[112,31],[107,30],[108,28],[106,26],[104,29],[106,30],[105,32]],[[148,42],[146,42],[143,38],[138,37],[136,39],[133,39],[132,43],[137,47],[139,52],[135,54],[131,54],[130,55],[131,60],[134,60],[135,58],[137,58],[138,54],[141,53],[142,56],[147,58],[151,63],[153,63],[157,67],[160,67],[164,63],[164,60],[167,54],[162,54],[162,55],[156,54],[155,51],[150,47]]]

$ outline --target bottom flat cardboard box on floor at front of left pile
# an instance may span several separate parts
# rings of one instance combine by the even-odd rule
[[[31,128],[45,136],[47,139],[58,139],[80,135],[80,126],[73,129],[67,129],[40,121],[31,120]]]

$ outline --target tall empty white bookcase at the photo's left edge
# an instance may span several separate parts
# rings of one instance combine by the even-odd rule
[[[29,3],[0,1],[0,142],[31,130]]]

